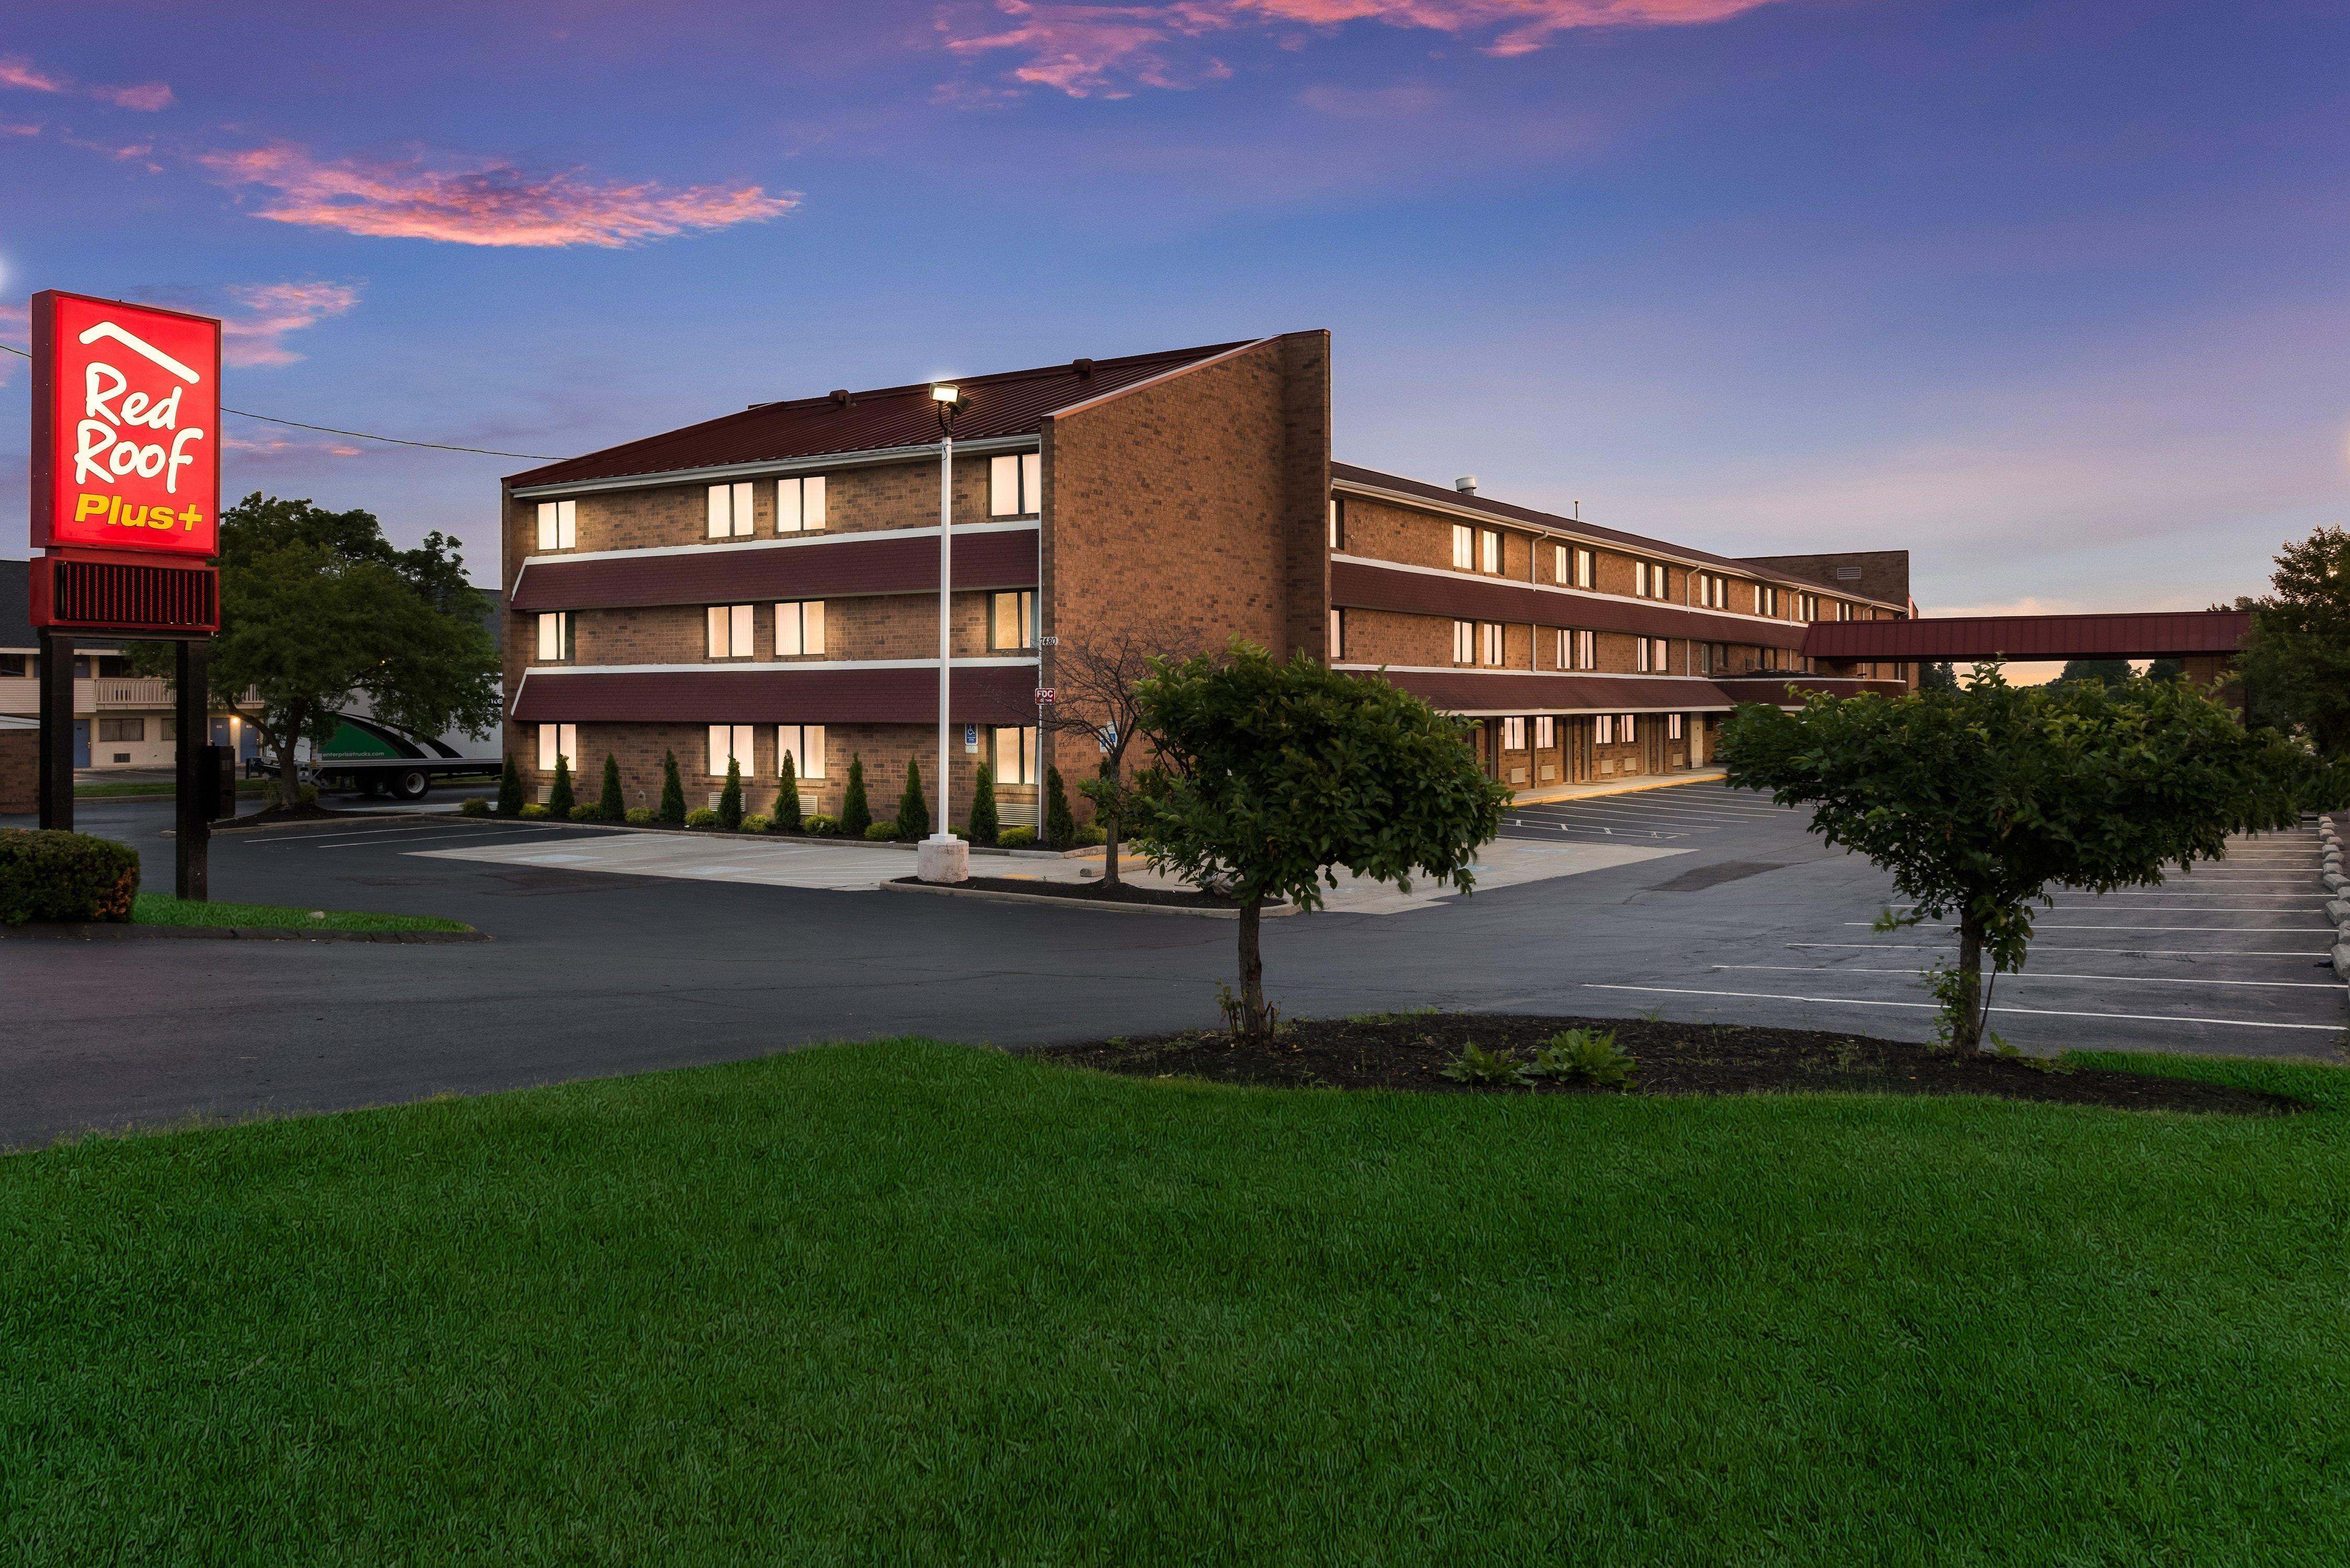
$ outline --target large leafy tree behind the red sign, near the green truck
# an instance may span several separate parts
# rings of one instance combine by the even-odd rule
[[[261,491],[221,512],[212,705],[261,733],[280,806],[301,802],[296,743],[327,745],[355,698],[425,736],[498,724],[498,649],[456,550],[437,531],[400,550],[374,512]],[[169,644],[134,644],[129,658],[141,675],[172,675]]]

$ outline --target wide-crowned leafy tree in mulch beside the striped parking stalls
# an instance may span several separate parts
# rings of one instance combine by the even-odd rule
[[[1814,693],[1798,712],[1748,703],[1723,729],[1732,785],[1812,806],[1812,832],[1892,872],[1908,905],[1880,929],[1958,914],[1958,969],[1936,994],[1960,1053],[1983,1039],[1983,957],[1993,976],[2023,966],[2049,889],[2157,884],[2338,790],[2308,748],[2247,733],[2183,682],[2009,686],[1998,663],[1969,679]]]

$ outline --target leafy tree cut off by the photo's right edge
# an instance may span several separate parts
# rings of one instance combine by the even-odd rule
[[[2284,545],[2249,609],[2235,670],[2254,717],[2298,729],[2322,757],[2350,755],[2350,531]]]

